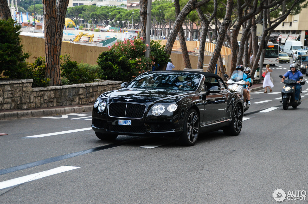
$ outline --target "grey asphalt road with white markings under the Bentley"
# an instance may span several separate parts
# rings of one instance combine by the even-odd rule
[[[0,203],[276,203],[278,188],[308,191],[308,86],[297,109],[283,110],[286,65],[271,67],[272,93],[251,93],[239,136],[207,133],[192,147],[101,141],[91,112],[0,121]]]

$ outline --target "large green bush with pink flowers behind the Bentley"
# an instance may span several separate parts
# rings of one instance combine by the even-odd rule
[[[116,42],[108,47],[109,51],[100,54],[97,63],[102,69],[101,79],[129,82],[136,76],[151,71],[156,65],[155,55],[145,57],[148,44],[144,44],[142,40],[142,37],[124,38],[124,41]],[[165,54],[165,58],[168,62],[169,56]]]

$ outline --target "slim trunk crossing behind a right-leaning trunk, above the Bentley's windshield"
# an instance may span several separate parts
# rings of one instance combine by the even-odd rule
[[[180,14],[180,2],[179,2],[179,0],[174,0],[174,6],[175,6],[176,17],[177,17]],[[185,36],[184,36],[184,30],[183,30],[182,26],[180,27],[179,41],[180,41],[180,46],[181,46],[181,50],[182,50],[182,56],[183,56],[183,59],[184,59],[185,68],[191,69],[192,66],[190,64],[188,50],[187,50],[187,46],[186,46],[186,40],[185,40]]]

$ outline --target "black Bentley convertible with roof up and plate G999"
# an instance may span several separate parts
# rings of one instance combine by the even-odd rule
[[[228,90],[218,75],[196,71],[146,72],[100,95],[92,112],[99,139],[173,137],[187,146],[202,132],[238,135],[242,121],[242,94]]]

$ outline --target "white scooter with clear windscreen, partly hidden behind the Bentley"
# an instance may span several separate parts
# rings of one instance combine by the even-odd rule
[[[231,78],[229,78],[228,75],[224,75],[225,77],[227,77],[229,80],[227,81],[228,84],[228,89],[233,90],[233,91],[237,91],[240,92],[241,94],[243,94],[244,91],[244,86],[246,84],[245,80],[243,80],[243,72],[242,71],[233,71]],[[248,75],[247,79],[250,79],[251,76]],[[242,100],[244,101],[244,96],[242,95]],[[245,101],[244,101],[245,102]],[[247,101],[246,103],[247,104]],[[248,110],[250,105],[244,105],[244,112],[246,110]]]

